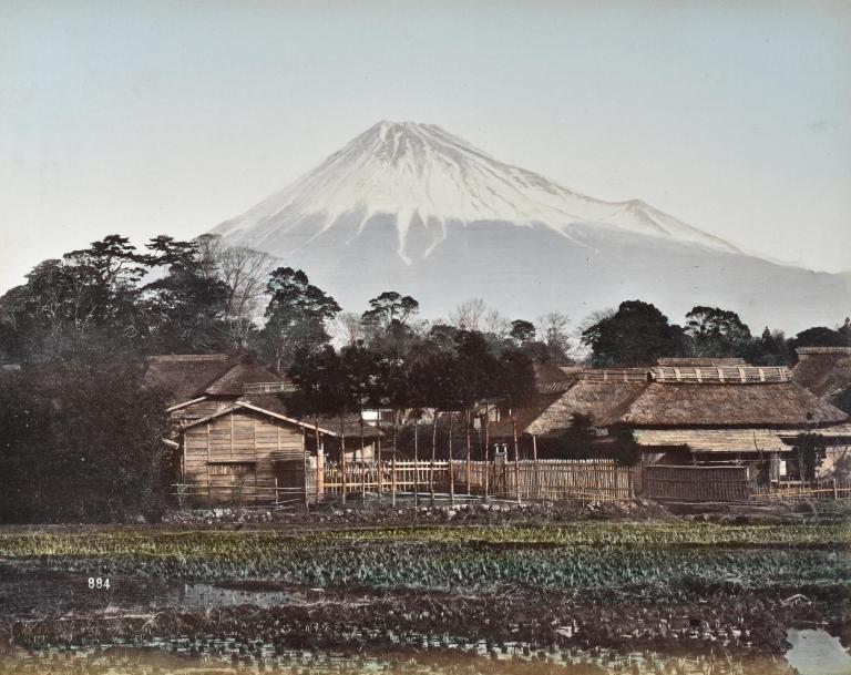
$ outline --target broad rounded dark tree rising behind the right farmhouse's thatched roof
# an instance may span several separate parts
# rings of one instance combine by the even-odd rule
[[[594,366],[652,366],[659,357],[680,356],[683,329],[671,326],[654,305],[621,303],[617,311],[582,331]]]

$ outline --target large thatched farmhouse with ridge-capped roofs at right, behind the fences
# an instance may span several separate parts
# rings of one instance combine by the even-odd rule
[[[574,381],[570,380],[574,378]],[[630,430],[642,463],[747,464],[762,482],[792,480],[799,434],[849,438],[849,416],[794,381],[785,367],[753,367],[740,359],[660,359],[648,368],[565,372],[554,401],[539,397],[516,412],[521,456],[563,434],[577,416],[588,418],[601,448]],[[505,437],[500,422],[494,430]]]

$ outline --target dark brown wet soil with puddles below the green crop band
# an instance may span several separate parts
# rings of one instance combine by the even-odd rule
[[[760,592],[717,591],[689,602],[623,593],[506,587],[474,594],[320,590],[270,582],[173,584],[113,577],[90,590],[73,574],[6,567],[0,574],[0,632],[16,644],[139,644],[211,641],[289,650],[388,650],[482,642],[530,650],[642,648],[781,654],[786,627],[827,625],[851,643],[841,605]]]

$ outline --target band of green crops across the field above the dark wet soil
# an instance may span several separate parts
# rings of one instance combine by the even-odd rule
[[[265,579],[310,586],[483,590],[533,585],[679,595],[735,589],[851,594],[851,529],[601,523],[561,526],[88,530],[0,533],[9,561],[86,574]],[[644,590],[644,591],[643,591]]]

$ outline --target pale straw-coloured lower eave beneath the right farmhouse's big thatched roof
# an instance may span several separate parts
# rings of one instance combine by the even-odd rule
[[[693,452],[788,452],[777,430],[770,429],[636,429],[639,446],[673,448],[685,446]]]

